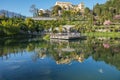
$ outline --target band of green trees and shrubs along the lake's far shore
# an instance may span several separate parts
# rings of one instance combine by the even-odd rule
[[[17,35],[41,35],[45,30],[52,28],[52,31],[54,31],[53,29],[55,27],[60,27],[66,24],[75,25],[76,30],[80,33],[101,33],[106,30],[105,33],[119,34],[120,30],[120,25],[93,26],[89,23],[89,21],[34,21],[30,18],[27,18],[25,20],[20,18],[10,18],[1,20],[0,36],[12,37]]]

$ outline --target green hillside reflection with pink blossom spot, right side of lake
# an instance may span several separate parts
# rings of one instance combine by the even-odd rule
[[[91,43],[90,43],[91,42]],[[107,64],[114,65],[120,69],[120,42],[119,39],[89,39],[93,56],[96,61],[105,61]],[[105,44],[109,47],[106,47]]]

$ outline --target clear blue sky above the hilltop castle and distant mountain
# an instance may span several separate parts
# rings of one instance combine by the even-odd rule
[[[92,8],[96,3],[103,4],[106,2],[106,0],[0,0],[0,10],[5,9],[25,16],[32,16],[29,12],[32,4],[35,4],[39,9],[50,9],[56,1],[71,2],[73,4],[83,2],[89,8]]]

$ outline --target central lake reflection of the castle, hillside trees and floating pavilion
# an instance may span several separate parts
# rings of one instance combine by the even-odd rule
[[[35,54],[32,56],[33,60],[44,59],[45,57],[52,56],[57,64],[68,64],[73,60],[83,62],[84,54],[81,51],[76,52],[76,48],[71,46],[71,43],[66,40],[53,40],[46,48],[35,48]]]

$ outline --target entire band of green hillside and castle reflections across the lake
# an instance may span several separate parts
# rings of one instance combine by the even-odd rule
[[[34,41],[13,40],[0,43],[0,56],[9,58],[11,54],[23,53],[24,51],[35,52],[32,59],[36,61],[46,56],[51,56],[57,64],[67,64],[73,60],[83,62],[89,56],[96,61],[105,61],[120,69],[120,42],[119,39],[111,38],[88,38],[80,41]],[[109,47],[106,47],[109,46]]]

